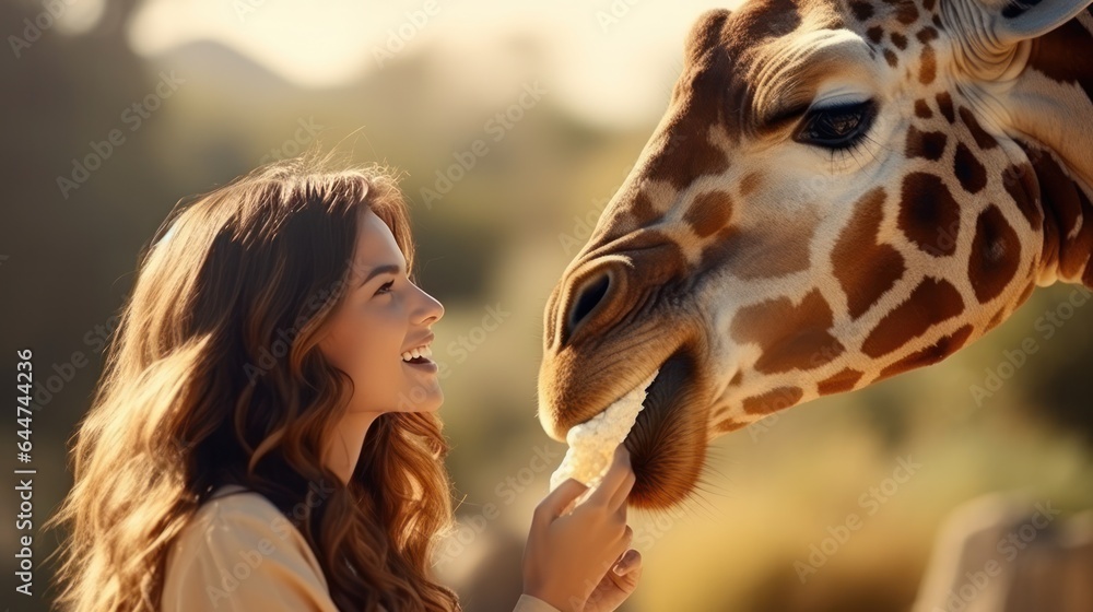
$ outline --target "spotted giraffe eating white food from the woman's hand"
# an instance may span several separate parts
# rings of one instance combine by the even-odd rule
[[[1093,266],[1090,0],[750,0],[704,13],[666,114],[544,311],[557,440],[659,368],[632,505],[710,440],[938,363]],[[1091,222],[1085,222],[1089,219]]]

